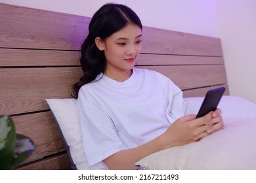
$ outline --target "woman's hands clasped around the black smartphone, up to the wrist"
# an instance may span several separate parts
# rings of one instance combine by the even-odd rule
[[[165,149],[196,142],[222,128],[223,120],[220,109],[209,112],[201,118],[196,118],[193,114],[183,116],[173,122],[160,136],[161,145]]]

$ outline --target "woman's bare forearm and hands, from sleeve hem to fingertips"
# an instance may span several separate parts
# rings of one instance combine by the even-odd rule
[[[121,150],[104,159],[109,169],[137,169],[137,161],[154,152],[196,142],[203,137],[223,128],[221,110],[209,112],[202,118],[195,115],[179,118],[169,125],[167,131],[156,139],[136,148]]]

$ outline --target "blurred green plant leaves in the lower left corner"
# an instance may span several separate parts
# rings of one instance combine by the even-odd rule
[[[14,169],[34,150],[32,139],[16,134],[11,116],[0,115],[0,169]]]

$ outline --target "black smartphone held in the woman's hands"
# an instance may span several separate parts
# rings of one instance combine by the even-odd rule
[[[200,110],[198,111],[196,118],[200,118],[208,112],[216,110],[225,90],[226,88],[224,87],[209,90],[203,99],[203,103],[200,107]]]

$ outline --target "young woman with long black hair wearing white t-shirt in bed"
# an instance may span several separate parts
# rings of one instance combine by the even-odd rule
[[[198,141],[221,129],[221,110],[184,116],[182,92],[169,78],[135,68],[142,24],[131,8],[106,4],[81,46],[83,76],[74,84],[91,169],[138,169],[139,159]]]

